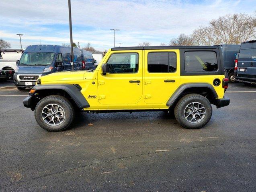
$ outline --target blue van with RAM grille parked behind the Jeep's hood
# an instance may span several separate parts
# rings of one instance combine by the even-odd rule
[[[18,90],[35,86],[40,76],[72,69],[70,47],[59,45],[30,45],[20,58],[14,73]],[[74,48],[74,69],[82,69],[78,48]]]

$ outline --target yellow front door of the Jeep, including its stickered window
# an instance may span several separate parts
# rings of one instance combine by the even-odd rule
[[[142,96],[142,50],[115,51],[105,59],[110,71],[98,72],[98,101],[109,108],[127,108],[136,104]]]

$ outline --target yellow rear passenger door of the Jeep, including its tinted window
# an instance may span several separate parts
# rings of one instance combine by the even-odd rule
[[[164,104],[180,85],[179,50],[145,50],[144,101]]]

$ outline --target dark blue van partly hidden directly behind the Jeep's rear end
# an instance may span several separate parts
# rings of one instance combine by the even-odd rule
[[[222,51],[224,67],[228,73],[229,83],[235,82],[234,67],[240,45],[219,45]]]

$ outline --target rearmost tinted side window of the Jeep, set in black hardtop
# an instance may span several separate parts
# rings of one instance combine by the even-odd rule
[[[186,51],[184,53],[186,72],[217,71],[217,55],[213,51]]]

